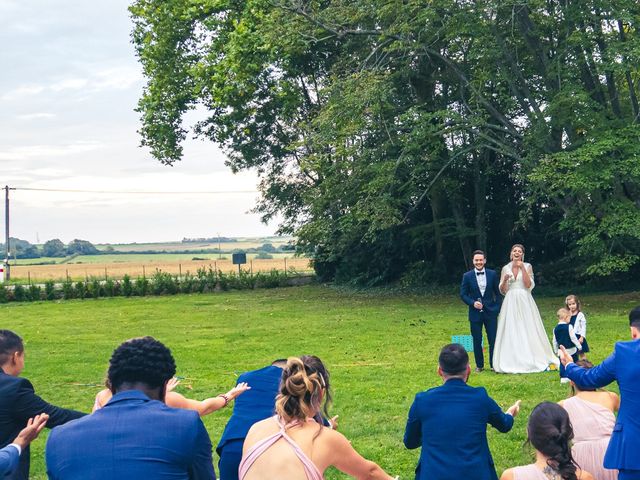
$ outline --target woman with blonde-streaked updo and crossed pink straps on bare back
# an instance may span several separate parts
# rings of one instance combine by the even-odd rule
[[[276,414],[255,423],[244,441],[240,480],[322,480],[334,466],[357,479],[392,480],[344,435],[322,425],[331,401],[329,372],[315,356],[291,357],[282,372]]]

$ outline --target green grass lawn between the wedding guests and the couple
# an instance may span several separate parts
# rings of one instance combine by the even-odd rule
[[[568,293],[568,292],[567,292]],[[629,339],[627,314],[640,294],[582,298],[589,326],[589,358],[600,362],[613,343]],[[538,299],[550,333],[558,297]],[[340,292],[312,286],[251,292],[110,298],[0,306],[2,328],[26,342],[23,376],[52,403],[89,411],[101,388],[112,350],[121,341],[153,335],[169,346],[178,375],[178,391],[192,398],[225,392],[237,375],[278,357],[312,353],[331,373],[333,414],[340,431],[365,457],[392,475],[413,478],[419,450],[402,444],[414,395],[440,384],[439,349],[452,334],[467,334],[466,307],[455,296],[419,297]],[[525,332],[523,332],[525,334]],[[557,372],[530,375],[472,374],[470,384],[485,386],[505,409],[522,399],[514,429],[489,430],[500,474],[528,463],[525,425],[543,400],[565,398]],[[617,391],[615,385],[611,387]],[[204,418],[213,445],[231,409]],[[32,448],[33,478],[44,479],[44,437]],[[214,461],[217,457],[214,453]],[[327,479],[346,478],[328,471]]]

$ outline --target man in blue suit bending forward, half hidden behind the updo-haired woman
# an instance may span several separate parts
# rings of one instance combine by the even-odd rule
[[[282,377],[284,359],[274,361],[268,367],[245,372],[238,383],[247,382],[251,390],[236,398],[233,414],[227,422],[216,452],[220,455],[220,478],[238,480],[238,466],[242,458],[242,444],[254,423],[274,414],[276,395]]]

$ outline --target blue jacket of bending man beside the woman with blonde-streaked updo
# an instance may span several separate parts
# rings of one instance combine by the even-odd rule
[[[281,377],[282,368],[274,366],[246,372],[238,377],[238,383],[247,382],[251,389],[235,399],[233,414],[216,448],[218,454],[227,442],[244,440],[254,423],[274,414]]]

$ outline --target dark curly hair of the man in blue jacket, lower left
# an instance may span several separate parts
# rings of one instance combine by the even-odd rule
[[[107,373],[114,393],[123,383],[163,387],[176,373],[171,350],[153,337],[132,338],[113,351]]]

